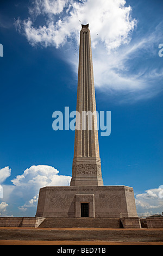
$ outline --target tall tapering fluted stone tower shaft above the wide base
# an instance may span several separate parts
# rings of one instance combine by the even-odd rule
[[[95,84],[89,25],[80,31],[77,111],[71,186],[102,186],[99,158]],[[91,119],[91,120],[90,120]],[[90,123],[89,123],[90,121]]]

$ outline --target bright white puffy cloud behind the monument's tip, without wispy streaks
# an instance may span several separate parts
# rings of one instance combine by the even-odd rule
[[[124,0],[35,0],[33,8],[29,8],[30,17],[24,21],[18,19],[16,26],[22,26],[32,45],[59,47],[68,38],[78,42],[81,23],[89,22],[93,46],[103,42],[110,51],[129,42],[129,33],[136,25],[136,20],[130,17],[131,7],[125,4]],[[42,26],[37,24],[39,16],[43,19]]]

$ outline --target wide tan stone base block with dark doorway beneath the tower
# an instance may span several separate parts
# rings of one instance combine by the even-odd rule
[[[40,189],[36,217],[137,217],[127,186],[58,186]]]

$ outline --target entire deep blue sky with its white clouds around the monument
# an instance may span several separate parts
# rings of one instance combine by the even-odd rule
[[[74,131],[54,131],[52,114],[76,110],[81,23],[97,111],[111,111],[111,135],[99,134],[104,185],[133,187],[140,216],[163,211],[162,5],[1,1],[0,216],[34,216],[39,188],[71,179]]]

